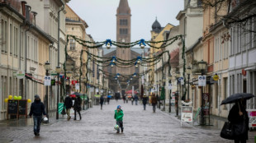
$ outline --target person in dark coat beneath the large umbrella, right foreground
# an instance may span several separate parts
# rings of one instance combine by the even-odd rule
[[[235,136],[235,143],[246,143],[248,140],[248,131],[249,131],[249,117],[246,113],[245,107],[246,100],[240,99],[235,102],[235,105],[230,109],[228,120],[231,124],[240,124],[245,120],[245,132],[242,135]]]

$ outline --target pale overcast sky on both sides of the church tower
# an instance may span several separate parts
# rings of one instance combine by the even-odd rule
[[[116,40],[116,9],[120,0],[71,0],[68,5],[88,23],[87,34],[95,41]],[[183,0],[128,0],[131,12],[131,42],[150,39],[151,26],[157,19],[162,27],[178,25],[176,16]]]

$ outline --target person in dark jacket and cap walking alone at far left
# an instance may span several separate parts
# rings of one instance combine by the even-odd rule
[[[42,114],[46,117],[45,105],[41,102],[39,95],[35,95],[35,101],[31,104],[31,112],[29,113],[30,118],[33,115],[35,136],[40,136]]]

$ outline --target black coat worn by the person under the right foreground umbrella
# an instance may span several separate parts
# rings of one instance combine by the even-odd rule
[[[243,113],[242,116],[239,116],[239,107],[241,112]],[[245,115],[245,116],[244,116]],[[244,119],[245,117],[245,119]],[[231,109],[228,116],[228,120],[231,122],[231,124],[238,124],[239,122],[243,122],[245,120],[247,131],[243,135],[236,136],[235,139],[245,139],[248,140],[248,131],[249,131],[249,117],[246,113],[246,110],[241,104],[236,103]]]

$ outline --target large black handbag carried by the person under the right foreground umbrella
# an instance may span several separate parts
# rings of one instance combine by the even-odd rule
[[[222,127],[222,129],[220,131],[220,137],[228,139],[228,140],[235,139],[234,127],[230,122],[224,123],[224,126]]]

